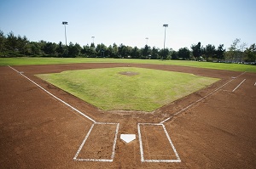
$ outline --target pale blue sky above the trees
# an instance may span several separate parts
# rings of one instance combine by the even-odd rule
[[[256,43],[256,0],[0,0],[0,30],[30,41],[178,50]],[[94,39],[92,37],[95,37]],[[148,37],[148,40],[146,39]]]

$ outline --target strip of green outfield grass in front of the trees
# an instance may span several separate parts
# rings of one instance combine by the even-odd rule
[[[97,59],[97,58],[0,58],[0,65],[52,65],[71,63],[134,63],[157,65],[183,65],[217,70],[236,70],[256,72],[255,65],[224,64],[212,62],[196,62],[185,60],[154,60],[154,59]]]

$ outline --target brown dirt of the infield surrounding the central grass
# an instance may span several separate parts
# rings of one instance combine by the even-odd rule
[[[187,72],[221,81],[144,113],[99,110],[34,76],[121,66]],[[0,67],[0,168],[256,166],[255,73],[135,64],[13,68],[18,72]],[[136,140],[125,144],[122,133],[136,134]]]

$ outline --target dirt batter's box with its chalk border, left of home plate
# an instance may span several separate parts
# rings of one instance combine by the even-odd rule
[[[118,131],[119,123],[94,123],[73,160],[112,162]]]

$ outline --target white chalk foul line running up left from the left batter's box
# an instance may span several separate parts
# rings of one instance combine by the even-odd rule
[[[9,68],[15,70],[15,68],[12,68],[11,66],[9,66]],[[15,70],[18,73],[20,73],[20,71]],[[49,91],[47,91],[46,89],[44,89],[44,87],[41,87],[40,85],[38,85],[38,83],[33,82],[30,78],[28,78],[27,76],[23,75],[22,73],[20,73],[21,76],[24,76],[27,80],[29,80],[30,82],[34,83],[36,86],[38,86],[39,88],[41,88],[42,90],[44,90],[44,92],[49,93]],[[74,108],[72,105],[67,104],[66,102],[64,102],[62,99],[59,99],[58,97],[56,97],[54,94],[49,93],[49,95],[51,95],[52,97],[54,97],[55,99],[59,100],[61,103],[66,104],[68,107],[70,107],[71,109],[75,110],[76,112],[78,112],[80,115],[83,115],[84,117],[86,117],[87,119],[89,119],[90,121],[96,122],[95,120],[93,120],[92,118],[90,118],[88,115],[84,115],[84,113],[82,113],[81,111],[77,110],[76,108]]]

